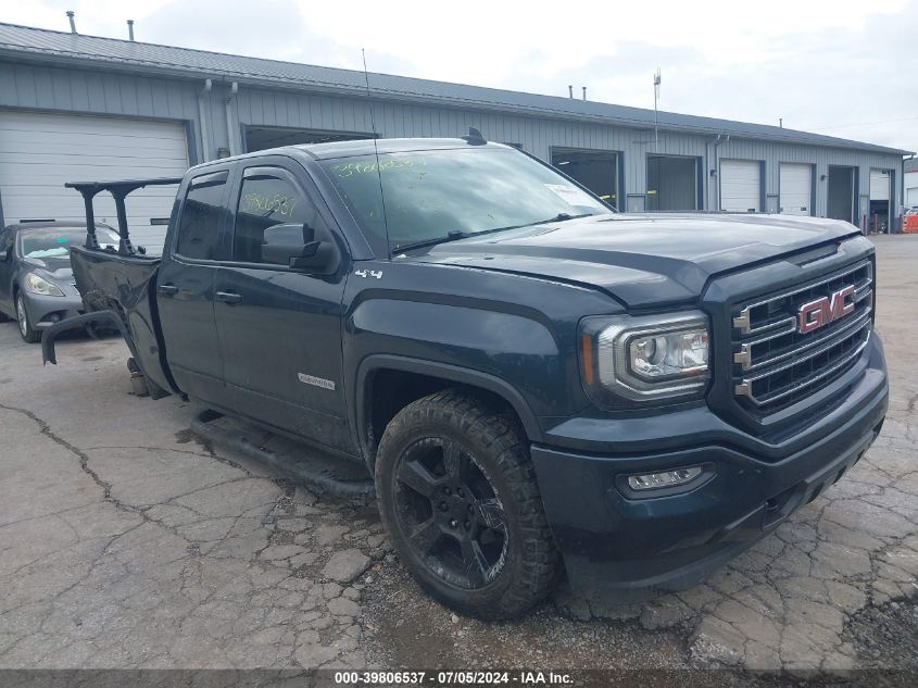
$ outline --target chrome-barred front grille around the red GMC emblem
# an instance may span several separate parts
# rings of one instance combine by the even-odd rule
[[[873,268],[868,262],[753,299],[734,311],[733,390],[741,403],[771,413],[808,397],[843,375],[870,338]],[[812,332],[800,332],[800,310],[853,287],[853,310]]]

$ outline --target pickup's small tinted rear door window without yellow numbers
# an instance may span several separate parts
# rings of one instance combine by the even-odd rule
[[[178,222],[177,254],[198,260],[219,258],[227,176],[224,171],[191,180]]]

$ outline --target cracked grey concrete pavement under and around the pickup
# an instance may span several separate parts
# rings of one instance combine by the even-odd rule
[[[865,459],[702,586],[562,590],[513,624],[429,600],[374,508],[196,442],[190,404],[129,393],[118,340],[42,368],[2,324],[0,667],[862,666],[852,620],[918,593],[918,237],[877,245],[892,390]]]

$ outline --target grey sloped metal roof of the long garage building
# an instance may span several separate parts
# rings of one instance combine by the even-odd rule
[[[366,75],[355,70],[74,35],[5,23],[0,23],[0,49],[8,60],[13,62],[22,62],[33,55],[40,55],[45,60],[54,61],[58,66],[91,65],[88,68],[104,71],[106,74],[112,70],[121,70],[140,74],[142,77],[148,73],[144,71],[155,68],[161,70],[161,73],[173,74],[176,79],[203,80],[208,77],[213,78],[214,75],[222,75],[227,82],[239,82],[243,88],[263,90],[309,89],[315,92],[336,92],[350,98],[363,98],[366,86]],[[389,74],[370,74],[369,78],[372,88],[378,93],[402,102],[423,103],[433,109],[440,108],[444,99],[450,99],[451,107],[478,112],[566,118],[581,124],[594,122],[604,127],[642,126],[650,129],[654,121],[658,120],[659,125],[668,130],[680,130],[702,138],[729,134],[739,138],[784,141],[793,145],[843,147],[892,154],[904,152],[863,141],[851,141],[770,125],[665,111],[655,113],[652,110],[592,100],[523,93]]]

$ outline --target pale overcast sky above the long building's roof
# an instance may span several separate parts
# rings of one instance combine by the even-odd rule
[[[918,150],[918,0],[4,1],[83,34],[778,124]]]

